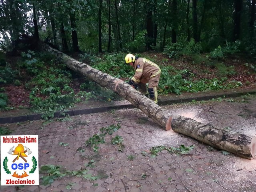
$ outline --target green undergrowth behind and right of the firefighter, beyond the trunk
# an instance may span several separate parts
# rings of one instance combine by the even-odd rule
[[[195,46],[194,43],[191,43],[191,46]],[[194,48],[185,47],[182,54],[190,56],[190,59],[204,61],[204,65],[211,65],[217,69],[216,76],[218,78],[201,78],[198,80],[196,75],[188,69],[176,69],[171,66],[171,63],[168,63],[168,59],[159,60],[157,56],[148,57],[147,55],[136,54],[136,56],[146,57],[153,62],[156,62],[162,70],[160,82],[158,85],[159,94],[181,94],[182,92],[200,92],[206,90],[223,90],[236,88],[241,86],[242,83],[238,81],[229,81],[228,76],[234,75],[234,67],[227,67],[224,63],[219,62],[218,60],[210,59],[208,56],[202,56],[200,54],[192,54],[194,50],[200,50],[200,46],[195,46]],[[196,51],[198,52],[198,51]],[[189,54],[188,54],[189,53]],[[132,78],[134,75],[134,70],[132,67],[124,64],[124,52],[104,54],[100,57],[94,55],[80,55],[81,60],[87,58],[90,65],[102,72],[108,73],[111,76],[116,78],[121,78],[122,80],[128,81],[129,78]],[[198,59],[200,58],[200,59]],[[205,62],[208,61],[208,62]],[[195,64],[194,61],[191,64]],[[209,66],[205,66],[209,68]],[[202,64],[202,68],[204,68]],[[210,72],[208,72],[210,73]]]

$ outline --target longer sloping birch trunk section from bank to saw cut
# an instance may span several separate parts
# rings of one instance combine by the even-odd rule
[[[113,90],[126,100],[130,101],[132,105],[142,110],[148,117],[152,118],[152,120],[165,130],[171,129],[171,114],[167,110],[155,104],[151,99],[132,88],[132,86],[126,82],[96,70],[85,63],[79,62],[64,53],[51,48],[50,46],[45,46],[44,49],[56,54],[66,63],[68,68],[83,74],[101,86]]]

